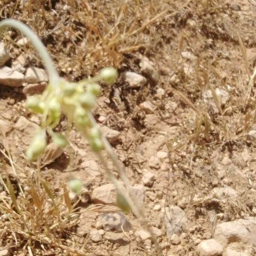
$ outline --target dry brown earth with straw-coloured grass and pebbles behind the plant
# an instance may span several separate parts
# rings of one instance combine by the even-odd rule
[[[120,132],[113,148],[131,184],[145,185],[145,198],[143,189],[138,195],[163,255],[197,255],[202,241],[222,239],[218,224],[256,217],[255,0],[2,0],[0,17],[28,24],[69,80],[110,65],[146,78],[135,87],[124,75],[102,84],[93,114]],[[42,67],[30,44],[17,45],[20,38],[4,33],[6,65],[22,54],[23,72]],[[16,256],[158,255],[132,214],[126,231],[99,227],[102,212],[113,217],[116,207],[93,204],[93,190],[109,181],[75,129],[72,163],[68,150],[49,149],[40,174],[46,183],[35,183],[37,167],[23,153],[40,119],[25,110],[25,99],[23,87],[0,85],[0,248]],[[63,117],[57,130],[66,126]],[[71,205],[64,196],[70,176],[84,182]],[[164,216],[175,205],[187,221],[170,241]],[[230,236],[223,255],[256,255],[248,239],[256,221],[249,220],[248,234]]]

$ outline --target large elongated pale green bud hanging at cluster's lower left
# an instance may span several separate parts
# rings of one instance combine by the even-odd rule
[[[47,146],[45,131],[41,131],[37,134],[29,145],[29,148],[26,151],[26,157],[30,161],[36,160],[41,154],[44,153],[44,150]]]

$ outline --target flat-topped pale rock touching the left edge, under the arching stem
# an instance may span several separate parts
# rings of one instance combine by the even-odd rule
[[[10,67],[0,67],[0,84],[19,87],[23,84],[24,75],[16,70],[12,70]]]

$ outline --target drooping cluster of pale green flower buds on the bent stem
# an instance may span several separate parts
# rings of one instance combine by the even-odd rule
[[[96,97],[101,93],[101,87],[96,82],[103,80],[112,84],[118,77],[117,71],[112,67],[103,68],[92,78],[77,83],[70,83],[64,79],[58,81],[58,86],[48,84],[42,95],[30,96],[26,100],[26,108],[33,113],[41,114],[41,130],[35,136],[26,151],[26,157],[33,161],[40,157],[46,148],[46,131],[57,146],[67,145],[67,138],[55,133],[53,128],[58,125],[61,113],[67,116],[69,122],[74,123],[88,139],[94,152],[103,148],[99,128],[91,123],[90,110],[96,103]]]

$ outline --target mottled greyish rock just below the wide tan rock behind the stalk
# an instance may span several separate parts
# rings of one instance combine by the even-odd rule
[[[131,223],[122,212],[103,213],[96,221],[96,229],[122,232],[131,230]]]

